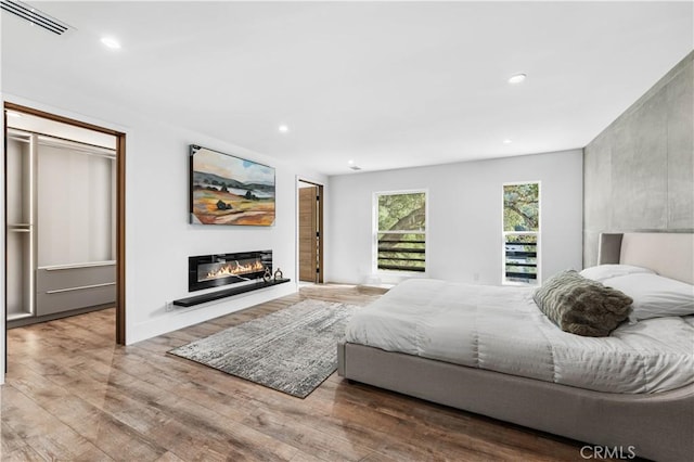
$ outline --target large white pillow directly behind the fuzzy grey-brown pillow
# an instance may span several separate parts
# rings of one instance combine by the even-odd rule
[[[652,273],[609,278],[603,284],[633,298],[630,319],[694,315],[694,285]]]

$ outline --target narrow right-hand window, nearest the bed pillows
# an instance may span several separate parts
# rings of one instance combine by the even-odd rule
[[[540,274],[540,183],[503,185],[504,284],[538,283]]]

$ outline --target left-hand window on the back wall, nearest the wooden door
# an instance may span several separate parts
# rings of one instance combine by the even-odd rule
[[[375,194],[374,266],[378,271],[426,271],[426,192]]]

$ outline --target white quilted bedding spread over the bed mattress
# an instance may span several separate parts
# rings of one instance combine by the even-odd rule
[[[358,311],[346,341],[599,392],[657,393],[694,383],[694,316],[582,337],[554,325],[531,293],[408,280]]]

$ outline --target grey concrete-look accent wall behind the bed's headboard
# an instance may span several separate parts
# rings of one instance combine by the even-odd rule
[[[584,149],[583,264],[603,231],[694,230],[694,52]]]

